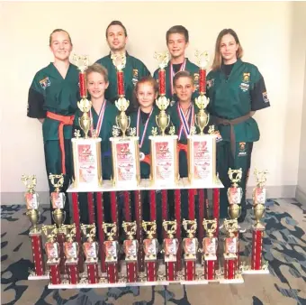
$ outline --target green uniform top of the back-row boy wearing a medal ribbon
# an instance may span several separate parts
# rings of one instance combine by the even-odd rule
[[[156,69],[154,72],[154,79],[158,80],[158,70]],[[186,70],[191,73],[193,76],[193,81],[196,90],[193,92],[193,97],[192,99],[194,100],[195,97],[199,96],[199,67],[195,65],[193,62],[188,60],[187,58],[183,63],[180,64],[171,64],[171,61],[168,62],[166,68],[166,98],[170,99],[170,106],[174,106],[174,102],[177,101],[177,97],[174,93],[173,86],[173,79],[175,77],[175,73],[181,70]],[[171,73],[172,70],[172,73]]]

